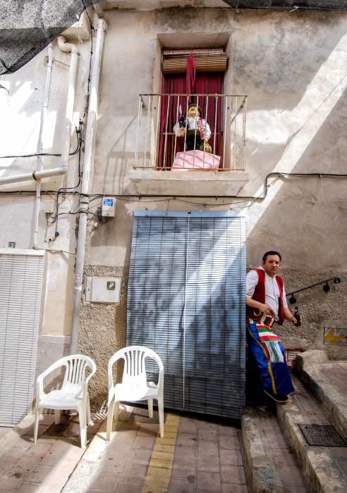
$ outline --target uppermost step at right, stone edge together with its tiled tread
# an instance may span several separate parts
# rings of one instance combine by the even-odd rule
[[[325,351],[306,351],[297,356],[296,371],[347,440],[347,361],[328,361]]]

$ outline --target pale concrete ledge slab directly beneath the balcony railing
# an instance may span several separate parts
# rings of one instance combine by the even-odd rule
[[[248,182],[248,173],[241,170],[225,171],[162,171],[136,169],[130,180],[139,194],[163,195],[236,195]]]

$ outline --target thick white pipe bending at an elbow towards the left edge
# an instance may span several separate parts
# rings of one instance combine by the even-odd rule
[[[77,78],[78,48],[67,43],[63,36],[58,38],[58,46],[62,51],[71,53],[70,70],[68,73],[68,96],[66,101],[65,127],[63,129],[63,144],[61,149],[61,167],[51,170],[37,170],[32,173],[23,173],[0,178],[0,185],[7,183],[26,182],[28,180],[42,180],[51,176],[65,175],[68,172],[68,155],[71,144],[71,123],[73,119],[73,104],[75,101],[75,83]]]

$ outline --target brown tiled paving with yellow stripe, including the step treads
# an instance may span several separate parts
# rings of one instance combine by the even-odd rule
[[[344,390],[345,373],[340,373],[334,368],[330,376],[339,379]],[[327,423],[305,387],[294,380],[292,399],[298,407],[310,415],[312,423]],[[255,415],[264,449],[284,491],[308,492],[274,413],[255,411]],[[13,430],[0,428],[1,493],[248,492],[240,430],[225,420],[167,413],[161,439],[157,424],[140,422],[134,418],[133,408],[124,406],[110,443],[106,442],[104,417],[95,417],[95,425],[88,428],[85,450],[80,449],[79,438],[49,436],[53,420],[53,416],[42,417],[36,445],[32,417]],[[347,470],[346,449],[334,449],[333,453]]]

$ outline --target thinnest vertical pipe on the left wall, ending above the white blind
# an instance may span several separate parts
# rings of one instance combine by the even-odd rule
[[[49,86],[51,85],[51,65],[53,63],[53,46],[51,43],[48,45],[48,63],[47,63],[47,76],[46,85],[44,87],[44,104],[42,106],[41,123],[39,125],[39,137],[37,139],[37,154],[41,154],[43,150],[42,145],[42,132],[44,129],[44,122],[47,116],[48,99],[49,99]],[[37,171],[43,169],[43,156],[37,156]],[[41,201],[41,180],[36,183],[36,201],[34,211],[34,231],[32,232],[32,248],[38,248],[37,246],[37,232],[39,227],[39,205]]]

